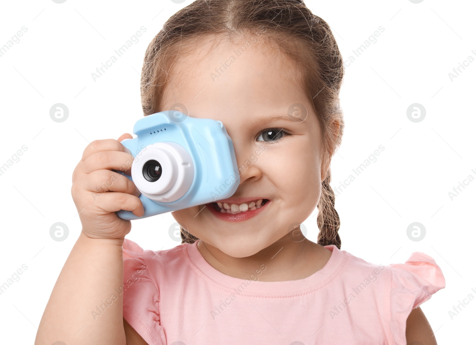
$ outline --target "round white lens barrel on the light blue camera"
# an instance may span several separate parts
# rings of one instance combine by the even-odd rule
[[[149,160],[161,166],[157,181],[150,182],[143,175]],[[188,151],[181,145],[164,141],[143,148],[132,162],[131,176],[139,191],[146,197],[160,202],[172,202],[183,197],[190,189],[195,168]]]

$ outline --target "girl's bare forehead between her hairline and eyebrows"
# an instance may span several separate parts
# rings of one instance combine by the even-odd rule
[[[180,103],[195,109],[197,117],[207,111],[243,117],[282,113],[292,104],[305,102],[306,93],[291,70],[292,63],[263,46],[227,41],[216,49],[197,49],[182,56],[164,90],[162,108]]]

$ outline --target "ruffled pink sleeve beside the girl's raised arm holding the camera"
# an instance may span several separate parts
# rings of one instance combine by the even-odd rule
[[[160,325],[159,289],[150,276],[148,259],[135,242],[124,239],[123,317],[148,343],[165,345]]]

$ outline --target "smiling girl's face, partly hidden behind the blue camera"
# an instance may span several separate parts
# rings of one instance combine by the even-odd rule
[[[202,46],[208,48],[208,42]],[[205,205],[172,212],[207,247],[233,257],[251,256],[280,239],[282,245],[293,241],[288,232],[314,211],[324,178],[316,114],[293,79],[291,63],[266,48],[257,38],[243,38],[237,44],[221,42],[213,52],[182,56],[161,107],[180,103],[188,116],[220,120],[240,168],[231,198],[268,199],[258,212],[245,211],[256,215],[241,221],[217,217]],[[291,106],[300,115],[289,116]]]

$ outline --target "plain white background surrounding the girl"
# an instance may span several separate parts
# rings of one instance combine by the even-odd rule
[[[2,343],[33,342],[81,229],[70,194],[73,169],[88,142],[132,133],[142,117],[139,73],[145,49],[163,23],[190,2],[2,2],[0,46],[22,26],[28,28],[0,57],[0,165],[22,145],[28,147],[0,176],[0,285],[22,264],[28,266],[0,296]],[[468,294],[476,296],[471,290],[476,290],[476,181],[453,200],[448,192],[468,175],[476,177],[476,62],[453,81],[448,73],[468,56],[476,58],[474,2],[306,4],[332,27],[346,60],[378,27],[385,28],[376,43],[347,63],[341,91],[345,132],[332,161],[332,187],[356,176],[352,169],[379,145],[385,147],[337,196],[342,249],[384,265],[403,263],[414,251],[434,257],[446,288],[422,309],[439,344],[473,341],[476,300],[453,319],[448,311]],[[139,42],[94,81],[91,73],[141,26],[147,31]],[[50,118],[55,103],[69,108],[65,122]],[[425,107],[423,121],[407,118],[412,103]],[[56,222],[69,227],[62,242],[50,237]],[[174,222],[170,214],[136,220],[127,237],[144,248],[171,248],[179,244],[168,234]],[[407,237],[413,222],[426,227],[421,241]],[[316,241],[316,214],[303,224]]]

